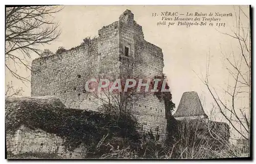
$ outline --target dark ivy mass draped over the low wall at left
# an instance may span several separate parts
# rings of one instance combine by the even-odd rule
[[[96,147],[108,134],[138,142],[136,120],[123,114],[117,121],[112,115],[65,107],[60,101],[49,99],[6,99],[6,131],[15,132],[21,125],[40,128],[65,139],[65,146],[73,150],[81,143]]]

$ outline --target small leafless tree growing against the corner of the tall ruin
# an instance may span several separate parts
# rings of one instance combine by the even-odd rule
[[[137,92],[137,85],[141,76],[137,75],[135,72],[139,60],[133,58],[124,58],[123,60],[124,61],[120,67],[120,74],[116,75],[115,72],[108,73],[109,78],[112,79],[110,81],[111,85],[103,88],[100,92],[96,89],[95,92],[93,92],[95,99],[92,100],[94,103],[101,106],[99,109],[101,112],[104,110],[105,112],[114,112],[116,115],[119,115],[119,117],[122,113],[131,112],[136,102],[150,94],[148,92],[143,92],[143,89],[140,92]],[[99,75],[98,81],[100,77],[101,76]],[[111,90],[112,85],[115,85],[113,83],[116,79],[120,79],[120,84],[118,85],[121,85],[121,92],[118,89]],[[136,80],[136,86],[124,91],[126,79]],[[143,83],[145,82],[143,81]]]

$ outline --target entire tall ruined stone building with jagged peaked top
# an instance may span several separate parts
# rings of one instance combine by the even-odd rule
[[[118,21],[103,26],[98,37],[81,45],[33,60],[31,96],[52,95],[67,107],[97,110],[86,81],[92,77],[116,78],[122,74],[127,60],[135,59],[135,75],[154,78],[163,73],[162,49],[144,40],[142,27],[134,21],[134,14],[125,10]],[[114,77],[115,76],[115,77]],[[161,141],[166,136],[164,102],[153,94],[142,97],[133,106],[140,132],[152,131]]]

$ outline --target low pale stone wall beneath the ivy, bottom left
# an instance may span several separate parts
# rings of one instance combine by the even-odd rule
[[[64,139],[56,134],[47,133],[41,129],[30,129],[20,126],[15,133],[6,134],[7,152],[12,154],[46,153],[56,154],[63,158],[82,158],[86,154],[86,147],[80,145],[74,151],[65,148]],[[8,154],[7,154],[7,158]]]

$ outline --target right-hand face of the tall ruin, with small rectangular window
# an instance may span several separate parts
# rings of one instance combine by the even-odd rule
[[[133,18],[133,15],[130,18]],[[130,50],[128,57],[124,54],[125,46]],[[134,58],[135,77],[153,79],[157,75],[162,75],[164,66],[162,49],[145,41],[142,27],[129,19],[126,19],[126,22],[120,21],[120,57]],[[153,93],[146,93],[145,97],[141,96],[133,107],[133,114],[139,123],[139,131],[142,133],[152,131],[154,136],[159,134],[160,141],[164,141],[167,133],[164,102],[160,102]]]

